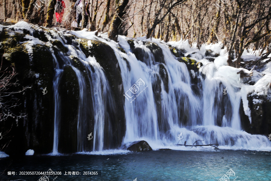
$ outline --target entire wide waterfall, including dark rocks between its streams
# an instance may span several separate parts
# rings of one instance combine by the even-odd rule
[[[65,152],[67,147],[75,147],[73,144],[76,148],[70,152],[89,152],[126,148],[139,140],[147,141],[153,149],[190,149],[176,144],[184,141],[193,144],[197,140],[202,141],[195,144],[217,143],[219,148],[228,149],[271,147],[265,136],[242,131],[241,93],[236,84],[239,80],[229,81],[223,75],[222,66],[208,62],[197,71],[189,69],[172,54],[170,44],[155,39],[129,40],[119,36],[116,43],[104,34],[97,37],[95,32],[85,30],[50,30],[45,34],[50,41],[59,41],[66,49],[59,52],[50,49],[55,69],[52,154],[58,154],[59,150]],[[108,62],[101,65],[99,56],[111,52],[92,56],[95,49],[89,46],[91,43],[87,43],[87,50],[83,49],[78,43],[80,38],[98,41],[101,46],[113,49],[114,55],[109,56],[116,57],[117,64],[112,64],[112,69],[107,69]],[[172,44],[185,49],[185,42]],[[186,56],[189,54],[204,62],[200,51],[189,48]],[[106,61],[111,63],[113,58]],[[120,69],[120,77],[108,73],[114,68]],[[121,79],[117,80],[121,83],[112,83],[116,79]],[[63,104],[69,101],[67,99],[73,99],[73,104]],[[118,116],[120,107],[124,110],[125,124]],[[65,120],[65,114],[71,115],[65,112],[67,110],[76,112],[70,122]],[[120,129],[122,125],[124,133]],[[90,133],[93,138],[88,140]],[[177,138],[180,133],[182,140]],[[118,137],[120,144],[116,145]]]

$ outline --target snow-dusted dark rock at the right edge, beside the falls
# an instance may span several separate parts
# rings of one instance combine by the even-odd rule
[[[269,135],[271,132],[271,99],[267,95],[248,95],[251,110],[251,126],[245,125],[249,133]]]

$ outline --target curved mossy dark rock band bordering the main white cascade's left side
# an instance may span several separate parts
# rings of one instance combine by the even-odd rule
[[[113,142],[115,147],[120,146],[125,135],[125,113],[124,113],[124,89],[122,84],[122,77],[118,60],[115,56],[114,50],[106,43],[92,40],[92,48],[87,46],[87,40],[80,39],[79,46],[85,53],[86,57],[94,56],[96,61],[104,69],[110,87],[114,95],[114,102],[116,104],[116,113],[112,114],[111,125],[113,126]]]

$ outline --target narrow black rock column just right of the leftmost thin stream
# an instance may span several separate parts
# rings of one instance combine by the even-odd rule
[[[77,152],[77,112],[79,99],[79,85],[72,67],[65,66],[60,86],[61,119],[59,122],[60,153]]]

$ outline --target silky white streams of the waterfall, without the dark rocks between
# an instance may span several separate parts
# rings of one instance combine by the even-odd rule
[[[176,60],[167,45],[156,40],[151,43],[136,40],[132,50],[125,37],[120,37],[119,43],[116,43],[106,38],[95,37],[93,34],[87,36],[83,31],[81,32],[83,35],[73,31],[69,33],[99,40],[114,50],[120,66],[125,97],[123,106],[126,132],[122,145],[146,140],[153,148],[168,148],[169,145],[179,143],[177,135],[181,132],[185,138],[182,142],[187,141],[189,144],[193,144],[196,140],[204,140],[196,144],[218,143],[223,148],[253,149],[260,147],[261,141],[266,143],[264,136],[254,136],[241,131],[240,90],[222,77],[214,64],[203,66],[195,72],[188,70],[184,63]],[[158,45],[160,52],[151,51],[153,43]],[[122,47],[125,52],[119,47]],[[114,112],[116,105],[109,80],[104,74],[105,70],[95,57],[86,57],[75,45],[69,45],[68,48],[67,54],[78,57],[84,66],[82,72],[69,62],[70,59],[64,58],[64,65],[72,66],[79,84],[77,151],[103,151],[114,148],[114,145],[109,144],[113,141],[110,138],[113,127],[109,112]],[[160,57],[159,60],[157,56]],[[201,55],[194,56],[201,57]],[[57,119],[60,118],[57,112],[61,109],[57,92],[60,73],[56,73],[55,77],[53,153],[56,152],[58,142]],[[196,83],[193,82],[193,78],[197,79]],[[226,87],[228,92],[224,95],[223,90]],[[119,97],[119,99],[123,98]],[[108,112],[108,109],[111,111]],[[93,116],[92,125],[89,123],[91,118],[88,112]],[[91,149],[88,140],[85,139],[90,132],[93,135]],[[270,144],[266,143],[266,146]],[[174,145],[171,148],[178,149]]]

